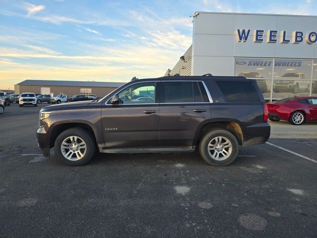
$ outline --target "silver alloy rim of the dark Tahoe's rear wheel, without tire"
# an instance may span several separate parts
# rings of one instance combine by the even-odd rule
[[[214,160],[225,160],[232,153],[232,144],[226,137],[214,137],[208,144],[208,153]]]

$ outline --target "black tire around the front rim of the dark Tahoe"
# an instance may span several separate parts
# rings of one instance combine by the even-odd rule
[[[69,160],[61,152],[62,142],[69,136],[80,137],[86,143],[86,153],[79,160]],[[80,127],[74,127],[61,132],[54,143],[55,156],[58,161],[68,166],[81,166],[87,164],[95,155],[96,145],[93,135]]]

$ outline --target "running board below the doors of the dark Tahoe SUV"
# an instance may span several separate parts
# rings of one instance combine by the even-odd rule
[[[101,153],[164,153],[164,152],[194,152],[195,146],[183,147],[124,147],[124,148],[99,148]]]

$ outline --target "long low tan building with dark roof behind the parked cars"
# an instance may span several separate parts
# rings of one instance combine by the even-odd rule
[[[14,93],[32,92],[40,94],[50,94],[56,96],[59,94],[72,97],[81,94],[85,96],[96,95],[103,98],[114,89],[124,83],[118,82],[89,82],[89,81],[59,81],[59,80],[24,80],[14,85]]]

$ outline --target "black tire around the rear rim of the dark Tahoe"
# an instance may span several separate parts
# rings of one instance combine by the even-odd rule
[[[215,138],[218,138],[219,136],[225,137],[225,139],[227,139],[229,143],[231,143],[231,154],[228,156],[228,158],[223,160],[215,160],[214,158],[211,157],[211,154],[209,153],[209,150],[208,150],[210,142],[214,140]],[[221,143],[222,142],[220,141],[219,143],[220,146],[221,146]],[[230,148],[228,148],[228,150],[230,150]],[[215,150],[214,152],[216,153]],[[208,131],[203,136],[199,144],[199,153],[203,157],[203,159],[212,166],[227,166],[227,165],[230,165],[237,158],[237,155],[239,153],[239,143],[237,138],[231,132],[224,129],[214,129],[214,130]]]

